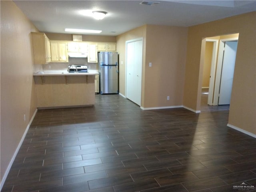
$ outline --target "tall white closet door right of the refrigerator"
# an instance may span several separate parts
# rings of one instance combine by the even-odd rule
[[[126,42],[126,98],[141,106],[142,38]]]

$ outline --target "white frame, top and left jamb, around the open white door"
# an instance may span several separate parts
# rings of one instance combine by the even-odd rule
[[[216,68],[216,77],[215,77],[215,86],[214,86],[213,105],[218,105],[218,100],[219,100],[220,78],[221,78],[221,71],[222,71],[223,52],[224,52],[225,42],[235,41],[235,40],[238,41],[238,37],[220,40],[218,62],[217,62],[217,68]]]

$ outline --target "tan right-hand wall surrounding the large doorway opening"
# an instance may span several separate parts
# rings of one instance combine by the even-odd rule
[[[256,134],[256,12],[188,29],[184,106],[200,110],[202,38],[239,33],[228,123]]]

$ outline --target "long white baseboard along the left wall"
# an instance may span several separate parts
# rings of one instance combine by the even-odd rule
[[[34,117],[36,116],[36,112],[37,112],[37,109],[35,110],[35,112],[34,112],[32,118],[30,119],[30,121],[29,121],[29,123],[28,123],[28,126],[27,126],[27,128],[26,128],[26,130],[25,130],[25,132],[24,132],[24,134],[23,134],[23,136],[22,136],[22,138],[21,138],[21,140],[20,140],[20,143],[18,144],[18,147],[16,148],[16,150],[15,150],[15,152],[14,152],[14,155],[12,156],[12,159],[11,159],[11,161],[10,161],[10,163],[9,163],[9,165],[8,165],[8,167],[7,167],[7,169],[6,169],[6,172],[4,173],[3,179],[2,179],[2,181],[1,181],[1,183],[0,183],[0,191],[2,190],[2,187],[4,186],[4,182],[5,182],[5,180],[6,180],[7,176],[8,176],[8,173],[10,172],[10,169],[11,169],[11,167],[12,167],[12,163],[14,162],[14,160],[15,160],[15,158],[16,158],[16,155],[18,154],[18,152],[19,152],[19,150],[20,150],[20,147],[21,147],[21,145],[22,145],[22,142],[24,141],[24,139],[25,139],[25,137],[26,137],[26,134],[27,134],[27,132],[28,132],[28,129],[29,129],[29,127],[30,127],[32,121],[34,120]]]

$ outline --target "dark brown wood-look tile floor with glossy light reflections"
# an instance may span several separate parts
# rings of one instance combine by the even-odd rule
[[[256,139],[228,128],[228,113],[141,110],[119,95],[96,95],[93,107],[38,110],[2,192],[256,187]]]

